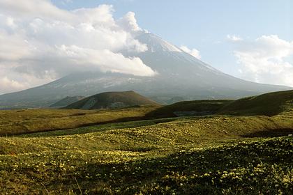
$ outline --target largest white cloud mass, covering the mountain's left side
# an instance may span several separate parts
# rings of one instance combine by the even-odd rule
[[[68,11],[49,0],[0,0],[0,78],[31,87],[84,70],[156,75],[120,54],[145,52],[147,45],[134,38],[141,31],[134,13],[115,20],[113,12],[109,5]],[[7,91],[3,84],[0,93]]]

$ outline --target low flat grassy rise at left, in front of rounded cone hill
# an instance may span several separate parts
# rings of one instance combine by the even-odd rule
[[[0,136],[64,130],[86,125],[142,120],[156,107],[125,109],[22,109],[0,111]]]

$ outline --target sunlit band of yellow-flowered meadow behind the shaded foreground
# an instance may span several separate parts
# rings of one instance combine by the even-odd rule
[[[173,150],[218,141],[239,139],[244,137],[260,137],[290,134],[293,130],[293,118],[268,117],[268,116],[213,116],[200,118],[178,118],[170,122],[142,127],[97,130],[93,133],[68,134],[62,137],[50,137],[47,132],[45,137],[1,138],[2,147],[0,154],[41,152],[50,148],[54,143],[57,148],[74,150]],[[87,128],[87,127],[85,127]],[[91,128],[91,127],[89,127]],[[97,128],[98,129],[98,128]],[[76,131],[76,130],[75,130]],[[92,131],[92,130],[91,130]],[[52,132],[52,135],[55,133]],[[5,140],[13,140],[11,145]],[[49,145],[48,145],[49,144]]]

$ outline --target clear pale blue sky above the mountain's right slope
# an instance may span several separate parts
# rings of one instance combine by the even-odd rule
[[[293,1],[290,0],[73,0],[53,1],[73,10],[99,4],[114,6],[114,17],[133,11],[143,28],[172,42],[200,51],[202,61],[225,73],[241,77],[227,35],[256,39],[277,35],[293,40]],[[291,57],[289,58],[292,60]]]

